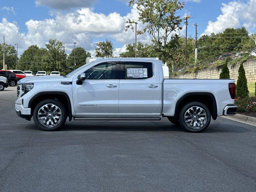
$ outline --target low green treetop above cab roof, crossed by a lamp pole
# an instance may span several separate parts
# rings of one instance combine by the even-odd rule
[[[126,45],[126,51],[120,53],[120,57],[135,57],[135,43]],[[151,45],[137,44],[137,57],[157,57]]]

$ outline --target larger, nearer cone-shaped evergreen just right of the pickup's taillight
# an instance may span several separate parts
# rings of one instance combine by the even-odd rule
[[[249,96],[249,90],[247,86],[247,79],[245,76],[245,70],[243,62],[241,62],[238,69],[238,80],[236,83],[236,96],[246,98]]]

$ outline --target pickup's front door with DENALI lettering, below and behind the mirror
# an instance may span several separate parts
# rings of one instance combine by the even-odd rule
[[[84,71],[82,85],[73,80],[73,104],[76,116],[118,114],[119,68],[116,62],[103,62]]]

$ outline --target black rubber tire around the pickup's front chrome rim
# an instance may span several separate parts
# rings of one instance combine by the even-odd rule
[[[60,120],[60,122],[58,122],[58,124],[56,124],[56,126],[53,126],[52,127],[47,127],[47,126],[44,126],[40,123],[39,119],[38,119],[38,111],[40,110],[41,107],[45,106],[46,104],[50,105],[50,104],[53,104],[55,106],[57,106],[59,109],[60,109],[60,112],[62,113],[62,118]],[[56,99],[47,99],[47,100],[43,100],[41,101],[40,103],[38,103],[33,111],[33,119],[34,119],[34,122],[35,124],[41,129],[41,130],[44,130],[44,131],[56,131],[58,130],[60,127],[62,127],[65,122],[66,122],[66,119],[67,119],[67,112],[66,112],[66,108],[65,106],[58,100]],[[48,118],[48,119],[51,119],[51,118]]]

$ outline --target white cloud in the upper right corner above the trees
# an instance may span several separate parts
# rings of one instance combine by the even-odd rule
[[[231,1],[228,4],[223,3],[220,9],[222,14],[215,22],[208,22],[204,34],[218,33],[225,28],[238,28],[241,25],[248,30],[255,28],[256,0]]]

